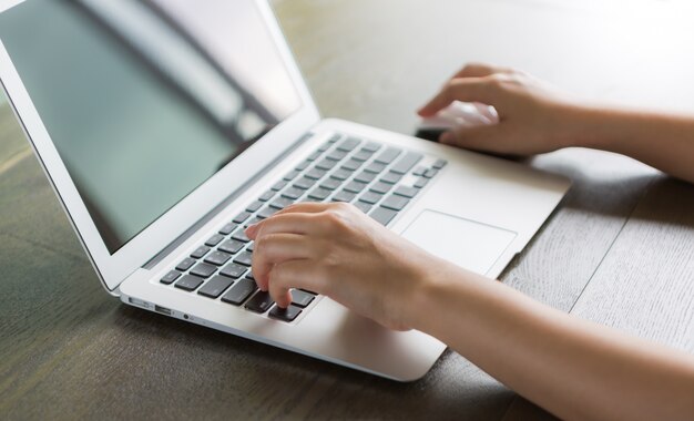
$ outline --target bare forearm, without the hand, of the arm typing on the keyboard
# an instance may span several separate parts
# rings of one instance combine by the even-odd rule
[[[441,269],[437,279],[411,306],[429,311],[414,315],[412,326],[559,417],[694,417],[691,356],[570,317],[458,268]]]

